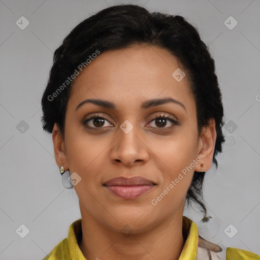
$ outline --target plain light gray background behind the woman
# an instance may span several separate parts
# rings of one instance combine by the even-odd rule
[[[63,38],[91,14],[119,3],[182,15],[210,47],[227,142],[218,169],[212,167],[205,179],[212,219],[202,224],[197,208],[184,215],[223,248],[260,254],[259,1],[0,0],[0,259],[42,259],[81,217],[75,191],[62,187],[51,135],[42,131],[40,101],[53,52]],[[29,21],[24,30],[16,25],[21,16]],[[224,24],[230,16],[238,21],[233,29]],[[227,22],[234,25],[234,20]],[[21,224],[29,229],[25,238],[16,233]],[[230,224],[238,230],[233,238],[224,232]],[[228,231],[234,235],[233,227]]]

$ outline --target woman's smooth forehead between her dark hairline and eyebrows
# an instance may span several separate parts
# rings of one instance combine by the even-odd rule
[[[172,96],[194,109],[187,77],[177,81],[172,75],[180,69],[185,73],[179,60],[158,46],[133,45],[106,51],[75,78],[69,102],[76,106],[86,98],[93,98],[133,105]]]

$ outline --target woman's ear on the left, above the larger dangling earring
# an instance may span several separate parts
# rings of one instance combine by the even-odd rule
[[[66,156],[65,143],[60,133],[58,125],[55,123],[52,130],[52,141],[54,147],[54,155],[57,166],[64,167],[65,171],[69,170],[69,165]]]

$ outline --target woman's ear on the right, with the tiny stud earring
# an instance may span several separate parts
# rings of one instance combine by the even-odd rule
[[[200,156],[202,159],[200,163],[197,164],[194,168],[196,172],[206,172],[210,169],[214,155],[216,137],[217,134],[215,128],[215,120],[211,119],[210,125],[207,127],[203,127],[202,134],[199,137],[199,150],[197,156]],[[202,154],[204,155],[204,157],[202,157]],[[203,164],[203,170],[201,170],[201,164]]]

